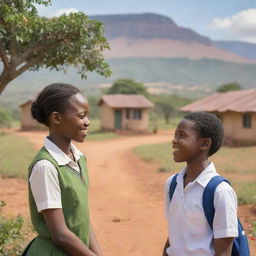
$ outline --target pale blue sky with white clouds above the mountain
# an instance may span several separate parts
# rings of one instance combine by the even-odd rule
[[[51,6],[38,10],[48,17],[70,11],[89,16],[150,12],[214,40],[256,43],[256,0],[52,0]]]

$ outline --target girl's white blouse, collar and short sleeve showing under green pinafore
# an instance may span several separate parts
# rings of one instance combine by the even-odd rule
[[[77,164],[83,155],[73,144],[71,150],[76,162],[72,161],[59,147],[45,138],[44,147],[60,166],[68,165],[80,174]],[[38,212],[45,209],[62,208],[58,172],[48,160],[40,160],[32,168],[29,183]]]

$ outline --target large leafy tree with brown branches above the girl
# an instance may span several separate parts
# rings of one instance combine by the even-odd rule
[[[36,4],[48,6],[51,0],[0,1],[0,94],[26,70],[42,67],[65,71],[74,65],[81,78],[93,70],[110,75],[102,55],[109,45],[100,22],[82,12],[40,17]]]

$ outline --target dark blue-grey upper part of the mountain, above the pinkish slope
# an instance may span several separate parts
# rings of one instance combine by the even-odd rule
[[[117,37],[133,39],[168,38],[204,45],[211,44],[209,38],[199,35],[192,29],[179,27],[169,17],[154,13],[98,15],[91,16],[91,18],[104,23],[105,35],[109,40]]]

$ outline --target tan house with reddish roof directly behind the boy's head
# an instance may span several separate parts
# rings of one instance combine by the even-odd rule
[[[226,144],[256,145],[256,90],[215,93],[181,108],[217,115],[224,126]]]

